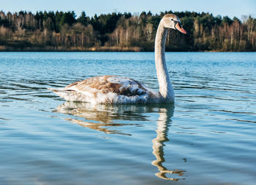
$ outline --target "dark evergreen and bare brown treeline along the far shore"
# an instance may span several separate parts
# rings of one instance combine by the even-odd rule
[[[0,12],[0,50],[154,51],[154,37],[167,13],[180,17],[189,36],[169,31],[167,51],[256,51],[256,19],[197,12],[116,13]]]

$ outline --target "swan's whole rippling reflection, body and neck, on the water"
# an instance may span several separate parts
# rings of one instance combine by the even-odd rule
[[[163,165],[164,146],[167,138],[168,127],[170,127],[171,117],[173,116],[173,105],[105,105],[91,103],[77,103],[66,101],[64,104],[57,106],[56,111],[61,114],[69,114],[72,117],[66,118],[69,122],[88,127],[93,130],[98,130],[104,133],[116,133],[121,135],[131,135],[123,133],[120,130],[115,130],[113,127],[121,127],[127,125],[142,126],[141,124],[126,124],[115,123],[116,120],[133,120],[133,121],[148,121],[147,113],[158,113],[157,121],[157,137],[152,140],[153,154],[156,160],[151,162],[152,165],[158,168],[155,175],[166,180],[178,181],[185,178],[168,178],[169,174],[183,176],[185,170],[172,169],[168,170]],[[75,116],[75,117],[73,117]]]

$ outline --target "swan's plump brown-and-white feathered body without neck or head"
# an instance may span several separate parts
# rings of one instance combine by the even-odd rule
[[[91,103],[157,103],[161,97],[140,82],[122,76],[95,76],[52,90],[67,101]]]

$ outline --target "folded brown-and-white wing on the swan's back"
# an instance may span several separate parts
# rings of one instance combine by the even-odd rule
[[[153,91],[134,79],[122,76],[95,76],[80,82],[69,84],[64,90],[75,90],[83,94],[97,95],[108,92],[117,95],[143,95],[151,94]]]

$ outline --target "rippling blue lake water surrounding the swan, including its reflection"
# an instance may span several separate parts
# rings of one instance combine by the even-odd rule
[[[256,53],[166,60],[174,104],[92,105],[47,88],[110,74],[158,90],[154,52],[0,52],[0,184],[255,184]]]

